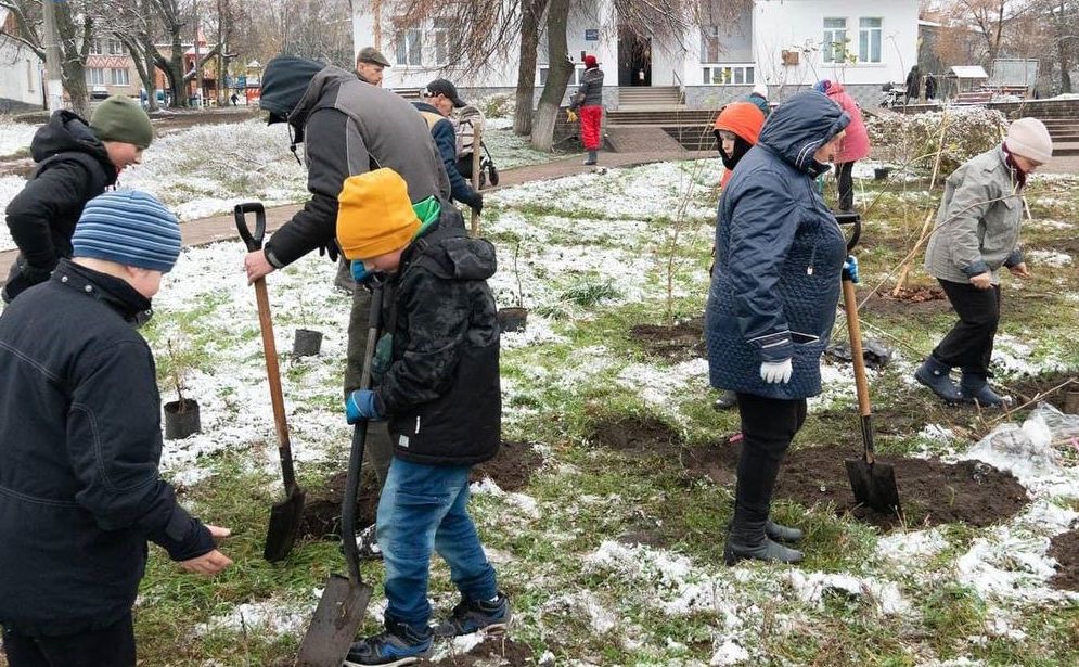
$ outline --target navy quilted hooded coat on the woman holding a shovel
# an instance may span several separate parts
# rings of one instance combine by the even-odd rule
[[[715,387],[766,398],[820,393],[846,257],[843,233],[813,188],[813,154],[850,121],[826,97],[798,93],[765,124],[723,190],[705,332]],[[792,359],[787,384],[760,379]]]

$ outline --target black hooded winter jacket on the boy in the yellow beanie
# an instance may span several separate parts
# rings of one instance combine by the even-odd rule
[[[401,256],[384,306],[391,362],[376,389],[398,458],[473,465],[498,451],[499,328],[487,286],[496,266],[490,242],[468,238],[445,203]]]

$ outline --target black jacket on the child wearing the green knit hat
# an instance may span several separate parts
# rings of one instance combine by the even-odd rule
[[[116,167],[86,120],[57,111],[30,142],[37,169],[8,204],[11,238],[20,255],[4,285],[4,300],[49,278],[72,256],[72,234],[86,203],[116,182]]]

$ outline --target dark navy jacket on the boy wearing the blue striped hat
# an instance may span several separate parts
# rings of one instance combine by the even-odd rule
[[[146,540],[176,560],[214,549],[158,474],[154,358],[132,322],[150,302],[62,260],[0,316],[0,624],[28,636],[129,613]]]

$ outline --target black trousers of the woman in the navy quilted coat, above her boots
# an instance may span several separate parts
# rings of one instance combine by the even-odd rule
[[[784,400],[738,394],[742,457],[734,493],[735,521],[763,522],[791,440],[806,421],[806,399]]]

